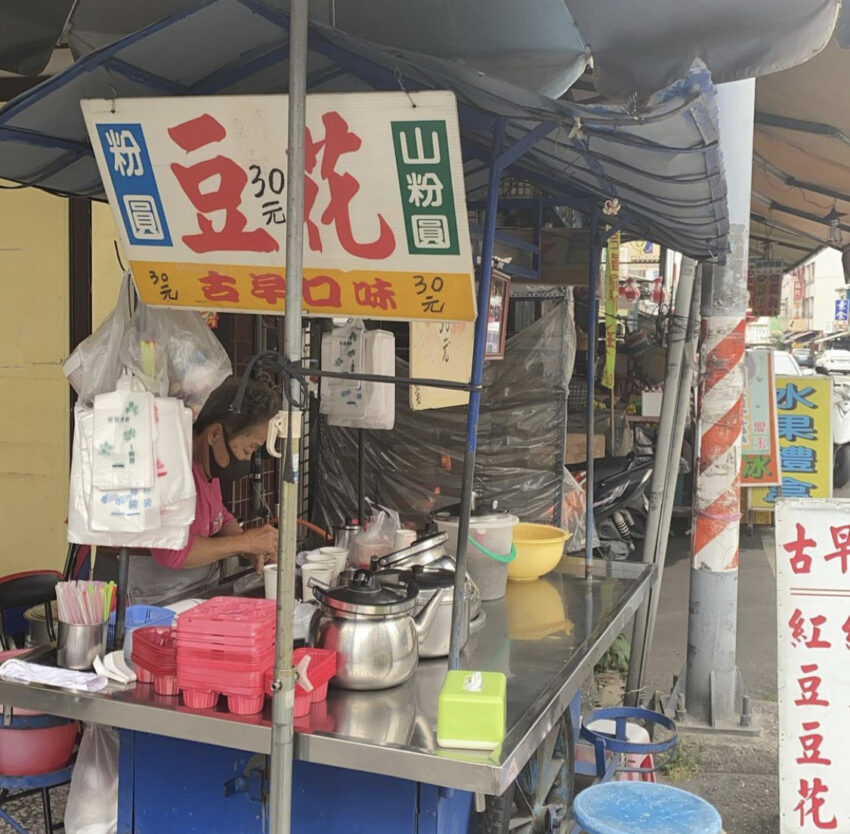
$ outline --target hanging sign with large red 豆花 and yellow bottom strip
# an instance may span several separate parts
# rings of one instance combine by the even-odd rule
[[[287,96],[82,102],[142,299],[282,313]],[[304,309],[475,318],[453,93],[307,97]]]

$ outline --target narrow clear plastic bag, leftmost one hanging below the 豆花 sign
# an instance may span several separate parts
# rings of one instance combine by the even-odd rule
[[[121,377],[124,363],[120,349],[130,323],[133,292],[127,273],[121,282],[115,309],[94,333],[77,345],[62,368],[84,405],[91,405],[98,394],[114,391]]]

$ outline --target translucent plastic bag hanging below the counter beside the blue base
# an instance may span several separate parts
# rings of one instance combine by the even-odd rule
[[[66,834],[115,834],[118,831],[118,733],[88,724],[80,742],[68,804]]]

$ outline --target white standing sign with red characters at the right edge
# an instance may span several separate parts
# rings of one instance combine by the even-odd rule
[[[780,834],[850,832],[850,501],[776,505]]]

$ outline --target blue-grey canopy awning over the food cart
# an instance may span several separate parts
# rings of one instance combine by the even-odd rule
[[[286,92],[288,25],[262,0],[210,0],[93,52],[0,110],[0,177],[102,199],[81,100]],[[514,175],[565,201],[617,198],[628,228],[692,257],[725,253],[726,190],[704,67],[640,107],[578,105],[310,24],[308,91],[399,88],[455,92],[467,159],[489,155],[496,119],[506,120],[509,141],[536,128],[543,138]]]

